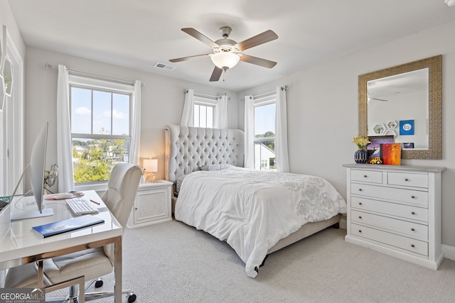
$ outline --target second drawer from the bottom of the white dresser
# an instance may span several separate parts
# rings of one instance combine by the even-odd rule
[[[363,211],[351,211],[350,221],[358,224],[386,229],[417,240],[428,241],[428,226],[414,222],[392,219],[387,216],[368,214]]]

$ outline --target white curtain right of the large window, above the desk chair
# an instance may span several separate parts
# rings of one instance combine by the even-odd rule
[[[134,82],[132,104],[132,133],[129,148],[129,162],[139,165],[139,150],[141,148],[141,87],[139,80]]]

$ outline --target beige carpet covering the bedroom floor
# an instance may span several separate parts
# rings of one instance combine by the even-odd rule
[[[346,243],[345,234],[328,228],[272,253],[252,279],[228,244],[181,222],[127,229],[123,285],[138,303],[455,302],[455,261],[429,270]]]

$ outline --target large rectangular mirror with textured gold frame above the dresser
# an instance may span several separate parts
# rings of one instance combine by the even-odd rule
[[[441,159],[441,67],[437,55],[358,76],[359,135],[406,142],[403,159]],[[403,131],[409,124],[400,126],[406,121],[412,121],[412,133]]]

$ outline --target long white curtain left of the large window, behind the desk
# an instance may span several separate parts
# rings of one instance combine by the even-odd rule
[[[68,69],[58,65],[57,80],[57,165],[58,192],[74,190],[73,145],[70,125]]]

